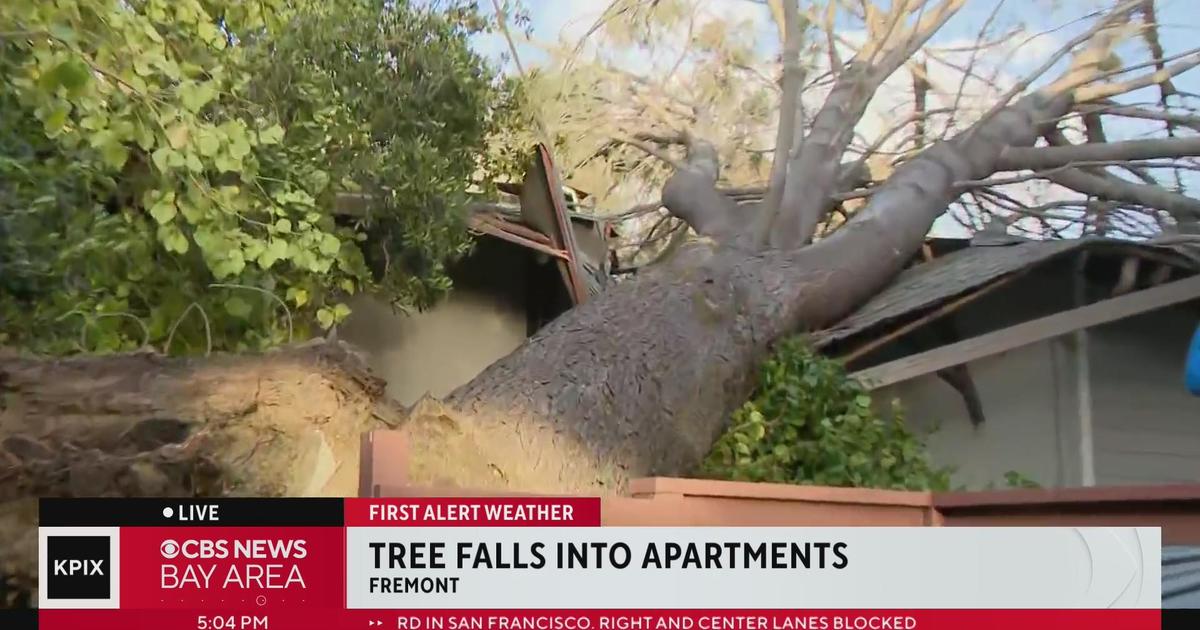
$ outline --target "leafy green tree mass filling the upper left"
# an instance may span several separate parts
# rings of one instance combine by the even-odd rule
[[[260,348],[361,290],[428,304],[503,94],[481,25],[464,4],[6,2],[0,343]]]

